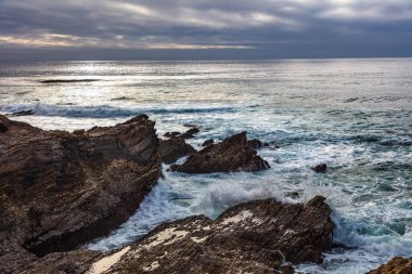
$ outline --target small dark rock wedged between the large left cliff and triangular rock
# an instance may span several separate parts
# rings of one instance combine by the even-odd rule
[[[160,140],[158,149],[162,155],[162,160],[165,164],[172,164],[180,157],[184,157],[196,152],[193,146],[186,144],[183,138]]]

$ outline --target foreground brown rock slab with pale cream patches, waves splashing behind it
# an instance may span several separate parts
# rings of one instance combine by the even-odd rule
[[[88,255],[83,265],[76,268],[95,273],[105,265],[105,274],[292,274],[294,269],[284,264],[285,260],[319,263],[322,252],[332,247],[334,224],[324,199],[317,196],[306,205],[255,200],[228,209],[215,221],[205,216],[189,217],[159,225],[120,250],[96,257]],[[48,257],[34,264],[36,270],[56,273],[55,268],[61,268],[57,259],[65,257]],[[75,258],[72,252],[67,257]],[[90,257],[94,257],[93,262]],[[57,258],[55,262],[53,258]],[[53,266],[54,272],[48,269],[50,265],[57,265]],[[73,264],[66,261],[66,265]]]

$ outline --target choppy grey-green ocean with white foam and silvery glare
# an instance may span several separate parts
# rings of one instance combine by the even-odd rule
[[[57,80],[57,81],[55,81]],[[64,80],[64,81],[61,81]],[[254,173],[166,171],[140,209],[86,247],[119,248],[157,224],[275,197],[325,196],[337,245],[308,273],[364,273],[412,257],[412,60],[0,63],[0,113],[42,129],[113,126],[145,113],[162,136],[189,142],[247,131],[269,146],[271,169]],[[311,167],[327,164],[326,173]],[[297,192],[298,198],[291,196]]]

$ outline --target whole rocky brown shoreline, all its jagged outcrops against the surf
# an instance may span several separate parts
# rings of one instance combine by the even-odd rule
[[[73,133],[0,115],[0,273],[286,274],[294,273],[286,262],[320,263],[334,227],[321,196],[306,205],[249,201],[216,220],[189,217],[110,253],[78,248],[139,208],[162,177],[162,162],[184,173],[270,168],[257,155],[261,142],[246,132],[198,152],[185,142],[197,132],[191,127],[160,140],[146,115]],[[181,157],[188,158],[173,164]],[[410,261],[395,263],[407,272],[371,273],[410,273]]]

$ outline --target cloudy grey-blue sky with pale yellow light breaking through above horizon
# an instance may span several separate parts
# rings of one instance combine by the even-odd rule
[[[412,56],[412,0],[0,0],[0,61]]]

